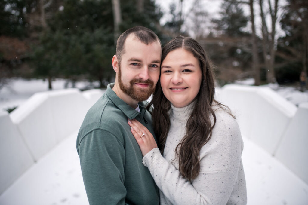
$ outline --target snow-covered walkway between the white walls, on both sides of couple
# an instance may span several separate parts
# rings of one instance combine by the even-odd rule
[[[77,133],[30,167],[3,192],[0,204],[88,204],[75,145]],[[307,205],[308,185],[249,139],[243,140],[248,205]]]

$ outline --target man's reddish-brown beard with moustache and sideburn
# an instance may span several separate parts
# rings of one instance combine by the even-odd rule
[[[122,75],[121,75],[121,68],[119,65],[119,76],[118,76],[118,82],[120,89],[127,94],[129,97],[136,101],[144,101],[147,100],[151,94],[154,92],[155,86],[154,82],[152,80],[141,80],[141,79],[132,79],[129,81],[130,86],[125,86],[122,82]],[[147,88],[135,88],[135,83],[144,83],[149,84]]]

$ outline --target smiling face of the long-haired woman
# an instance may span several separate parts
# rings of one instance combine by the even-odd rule
[[[202,79],[199,60],[189,51],[178,48],[161,63],[160,84],[174,107],[185,107],[197,96]]]

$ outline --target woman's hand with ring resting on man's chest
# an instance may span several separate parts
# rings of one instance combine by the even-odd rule
[[[143,156],[157,147],[151,132],[140,122],[135,119],[128,119],[128,124],[131,126],[131,132],[134,135]]]

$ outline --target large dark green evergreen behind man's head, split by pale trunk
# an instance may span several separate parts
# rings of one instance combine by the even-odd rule
[[[140,6],[144,10],[140,10]],[[139,10],[143,13],[138,12]],[[48,22],[39,46],[34,47],[37,76],[87,78],[110,82],[115,75],[111,66],[115,54],[114,21],[110,0],[66,0]],[[121,1],[120,33],[132,26],[145,26],[157,34],[161,14],[153,1],[132,4]],[[158,34],[159,35],[159,34]],[[39,62],[42,61],[42,62]]]

